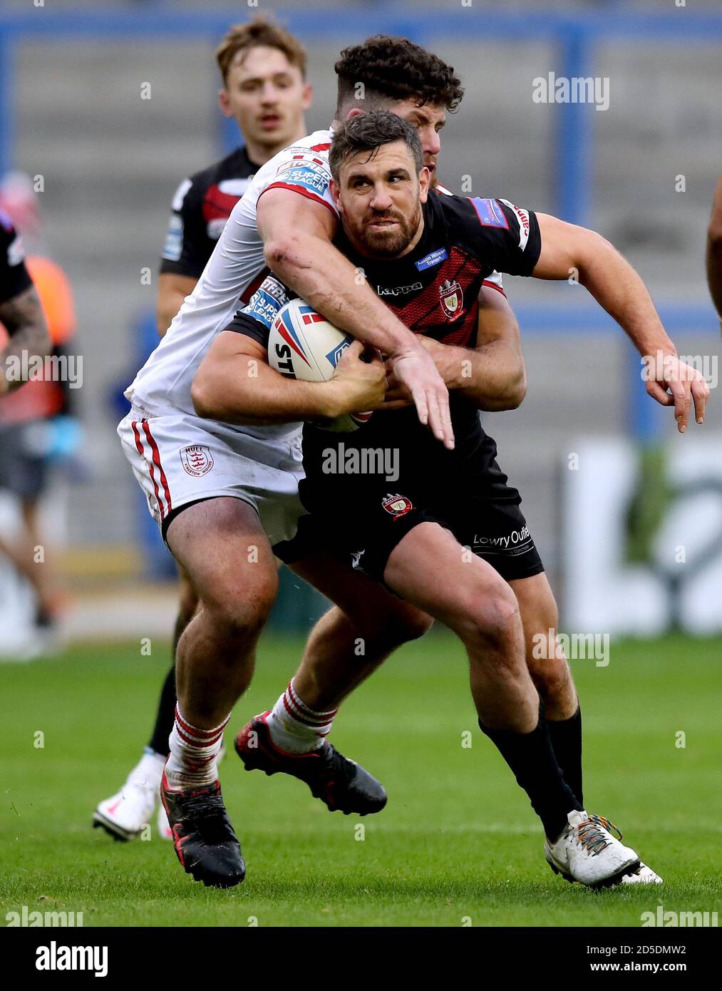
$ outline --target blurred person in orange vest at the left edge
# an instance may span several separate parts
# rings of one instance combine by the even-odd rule
[[[17,231],[8,250],[8,271],[16,270],[9,278],[20,288],[17,295],[6,299],[0,307],[0,320],[5,316],[0,328],[0,346],[6,355],[12,352],[16,357],[22,357],[23,350],[27,350],[29,358],[39,353],[40,349],[35,347],[23,349],[21,345],[19,349],[19,328],[11,326],[17,321],[12,310],[7,309],[15,304],[17,314],[22,314],[23,304],[19,300],[23,292],[30,292],[31,309],[26,306],[28,325],[35,322],[32,308],[39,303],[50,336],[48,350],[59,359],[66,355],[67,343],[75,330],[72,292],[62,269],[38,248],[40,213],[37,195],[28,176],[12,172],[3,179],[0,212],[6,218],[6,237],[9,234],[7,221]],[[25,256],[24,241],[34,249],[28,256]],[[21,264],[27,275],[18,271]],[[6,367],[9,367],[7,357]],[[62,368],[61,365],[56,367]],[[48,561],[48,541],[42,532],[40,504],[48,490],[52,462],[72,449],[77,428],[70,416],[70,384],[66,378],[30,376],[29,381],[18,388],[13,388],[8,378],[4,377],[0,383],[0,489],[19,500],[22,532],[12,543],[0,542],[0,551],[30,582],[35,594],[35,636],[25,651],[25,657],[29,659],[52,646],[64,599],[56,587]],[[44,549],[42,562],[36,560],[38,547]]]

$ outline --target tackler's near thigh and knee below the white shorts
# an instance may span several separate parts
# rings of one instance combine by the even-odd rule
[[[220,496],[178,512],[165,534],[204,607],[238,614],[267,614],[278,588],[275,559],[255,507]]]

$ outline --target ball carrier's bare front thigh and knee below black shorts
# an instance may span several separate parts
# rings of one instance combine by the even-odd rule
[[[439,523],[413,527],[391,551],[383,579],[397,595],[454,629],[498,629],[518,617],[508,584]]]

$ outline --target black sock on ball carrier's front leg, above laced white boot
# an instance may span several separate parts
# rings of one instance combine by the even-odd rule
[[[550,839],[556,839],[567,826],[567,813],[572,809],[581,810],[581,806],[562,777],[542,706],[539,707],[537,727],[530,733],[490,729],[481,719],[478,724],[511,768],[517,784],[529,796],[546,834]]]

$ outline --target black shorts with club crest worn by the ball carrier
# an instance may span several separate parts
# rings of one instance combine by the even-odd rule
[[[296,535],[276,544],[273,552],[292,564],[327,551],[382,583],[394,547],[419,523],[436,522],[507,582],[541,574],[544,565],[519,507],[521,496],[496,463],[494,442],[485,442],[484,471],[441,492],[403,479],[381,484],[362,478],[352,484],[304,479],[299,495],[309,515],[299,520]]]

